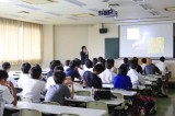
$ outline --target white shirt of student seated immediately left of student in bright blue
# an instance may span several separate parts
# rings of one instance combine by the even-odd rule
[[[105,69],[98,76],[102,79],[102,83],[113,83],[113,79],[116,76],[116,73],[114,73],[110,69]]]

